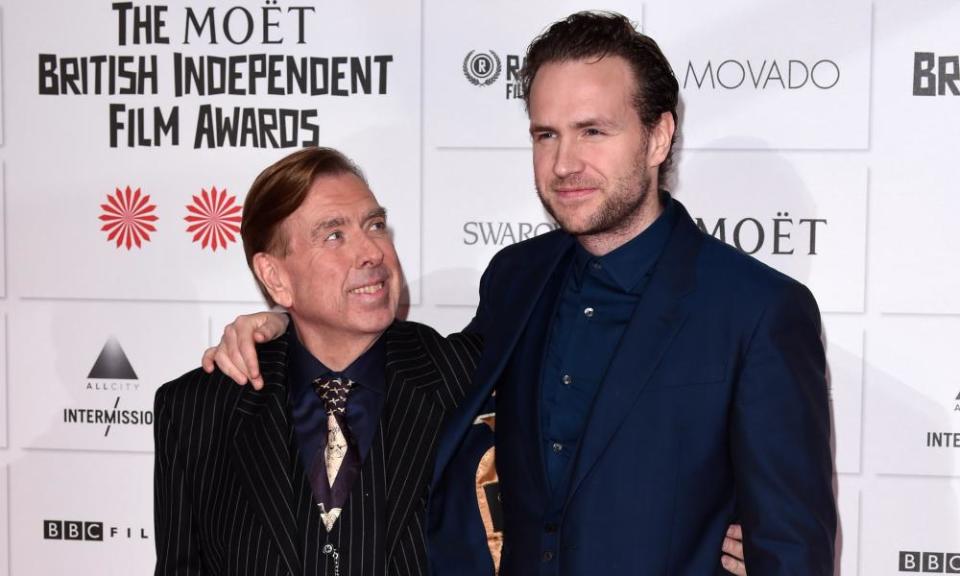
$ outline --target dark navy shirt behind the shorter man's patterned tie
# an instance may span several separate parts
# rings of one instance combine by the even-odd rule
[[[313,389],[313,381],[317,378],[340,376],[356,382],[347,397],[346,418],[350,434],[360,450],[362,463],[373,445],[373,435],[377,431],[380,412],[383,410],[386,387],[383,368],[386,364],[386,350],[383,338],[378,339],[342,372],[335,372],[324,366],[303,346],[292,326],[291,322],[291,328],[287,330],[290,350],[287,385],[290,390],[293,427],[304,470],[309,474],[314,459],[327,445],[327,413],[323,409],[323,400]]]

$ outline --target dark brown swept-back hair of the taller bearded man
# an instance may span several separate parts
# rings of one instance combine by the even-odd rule
[[[680,85],[670,62],[653,38],[638,32],[622,14],[613,12],[571,14],[553,23],[530,43],[520,71],[527,110],[530,109],[530,87],[544,64],[599,60],[605,56],[619,56],[633,70],[636,80],[633,105],[646,128],[656,126],[664,112],[669,112],[677,123]],[[670,171],[672,161],[673,142],[660,165],[661,182]]]

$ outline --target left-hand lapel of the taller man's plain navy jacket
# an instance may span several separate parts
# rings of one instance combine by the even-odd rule
[[[483,354],[474,377],[476,388],[451,414],[444,428],[444,434],[440,437],[432,485],[440,481],[443,470],[456,452],[464,434],[473,424],[474,418],[480,413],[487,398],[493,393],[494,385],[503,373],[510,354],[513,353],[551,274],[567,250],[573,246],[573,237],[562,233],[551,234],[558,234],[558,236],[554,237],[552,244],[545,247],[543,254],[537,254],[537,258],[530,261],[518,262],[514,259],[511,261],[512,268],[501,270],[501,277],[494,279],[501,282],[509,281],[512,289],[506,284],[494,286],[493,289],[498,293],[486,295],[488,298],[495,298],[498,301],[502,299],[504,302],[502,304],[498,302],[495,305],[499,314],[497,322],[490,330],[490,334],[483,335]],[[549,236],[545,235],[539,241],[545,241]],[[539,426],[539,423],[535,425]]]

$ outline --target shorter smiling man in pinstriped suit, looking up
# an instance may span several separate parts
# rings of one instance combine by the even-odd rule
[[[433,446],[477,339],[395,319],[385,211],[335,150],[264,170],[242,236],[291,327],[257,351],[260,392],[202,370],[157,392],[156,574],[426,574]]]

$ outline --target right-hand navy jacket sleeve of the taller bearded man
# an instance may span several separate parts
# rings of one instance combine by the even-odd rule
[[[790,284],[764,310],[736,388],[731,453],[750,574],[833,575],[837,528],[820,313]]]

